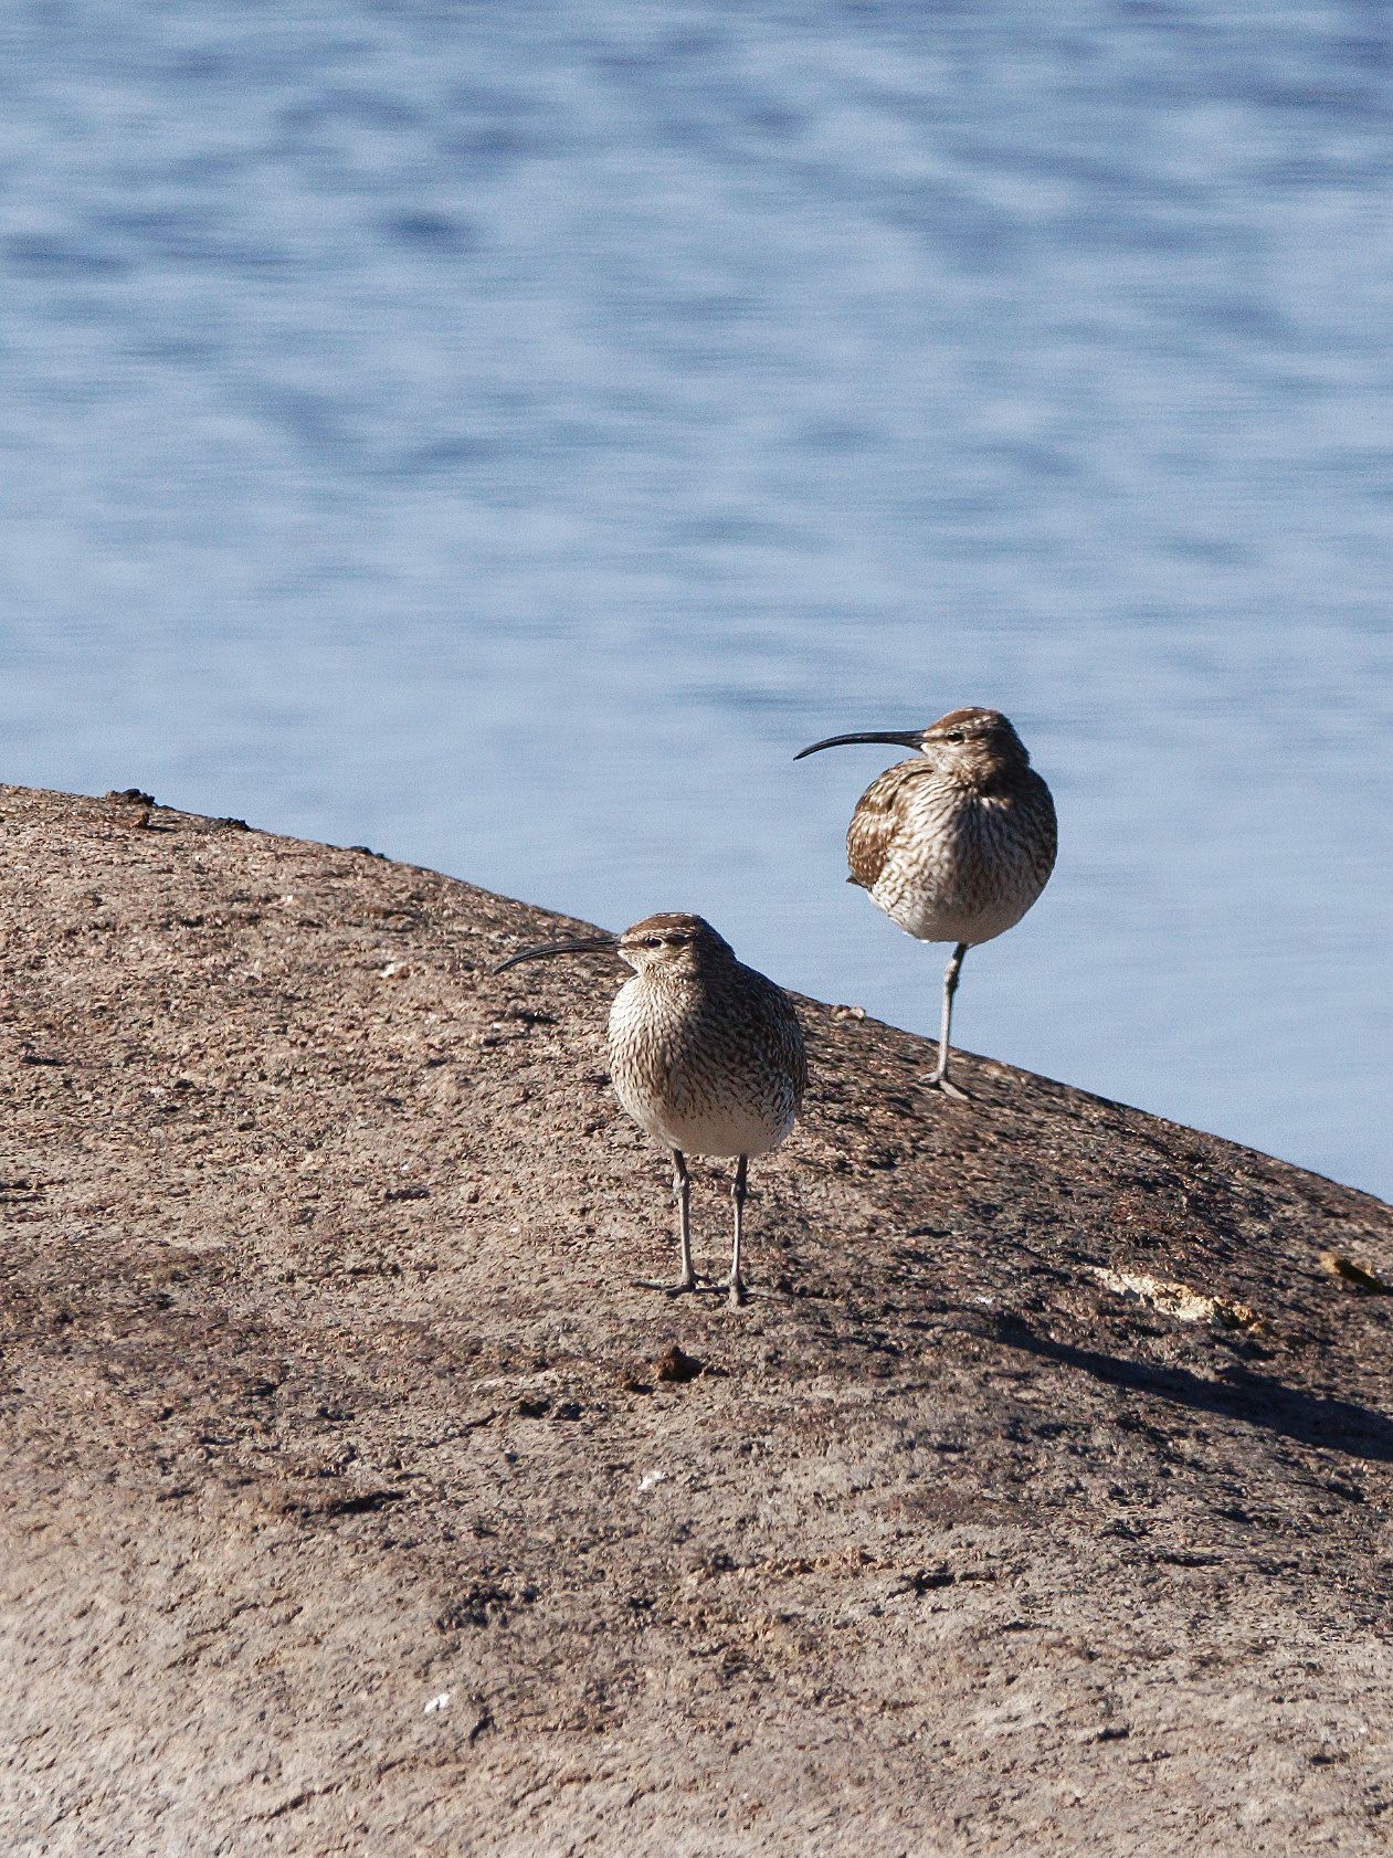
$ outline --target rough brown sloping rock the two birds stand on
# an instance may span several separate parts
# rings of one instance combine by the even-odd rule
[[[767,1295],[669,1302],[617,974],[488,972],[568,925],[0,847],[9,1858],[1389,1849],[1389,1208],[804,1003]]]

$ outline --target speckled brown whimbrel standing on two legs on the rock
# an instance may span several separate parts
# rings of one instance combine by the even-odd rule
[[[778,1148],[793,1128],[808,1083],[808,1059],[793,1001],[763,974],[736,961],[723,935],[700,916],[644,916],[622,935],[524,948],[494,970],[522,961],[609,949],[633,968],[609,1009],[609,1070],[615,1094],[656,1143],[672,1150],[680,1275],[644,1289],[693,1291],[691,1182],[687,1156],[734,1156],[736,1239],[730,1302],[745,1302],[741,1236],[750,1156]]]

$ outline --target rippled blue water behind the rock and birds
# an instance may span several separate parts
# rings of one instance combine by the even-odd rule
[[[916,1029],[882,762],[1062,851],[962,1042],[1393,1193],[1382,4],[22,4],[0,775],[710,914]]]

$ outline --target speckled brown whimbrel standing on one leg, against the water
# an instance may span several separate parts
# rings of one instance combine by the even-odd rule
[[[999,710],[949,710],[923,730],[828,736],[802,749],[890,741],[916,749],[862,793],[847,831],[847,883],[919,942],[953,942],[932,1085],[964,1096],[947,1076],[953,996],[962,957],[1014,927],[1055,868],[1049,788]]]

